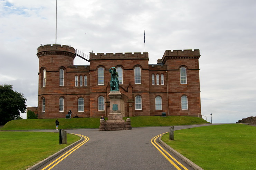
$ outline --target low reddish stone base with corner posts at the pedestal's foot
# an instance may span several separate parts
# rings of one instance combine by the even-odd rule
[[[101,119],[99,126],[99,131],[105,131],[105,130],[131,130],[131,119],[127,118],[126,122],[123,121],[105,121],[104,119]]]

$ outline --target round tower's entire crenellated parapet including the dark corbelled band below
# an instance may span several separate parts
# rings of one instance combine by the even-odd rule
[[[60,44],[47,44],[37,48],[37,57],[48,55],[61,55],[75,58],[75,49],[71,46]]]

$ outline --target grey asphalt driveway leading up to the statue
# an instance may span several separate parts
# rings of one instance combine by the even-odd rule
[[[174,130],[215,124],[175,126]],[[67,133],[82,134],[89,140],[77,150],[56,164],[54,170],[176,170],[151,140],[159,134],[169,132],[170,127],[133,128],[124,131],[98,131],[98,129],[73,129]],[[48,130],[54,131],[54,130]],[[55,130],[56,131],[56,130]],[[175,133],[174,133],[175,140]],[[158,140],[157,140],[158,141]],[[158,142],[157,142],[158,143]],[[159,143],[158,143],[159,144]],[[160,144],[161,147],[163,147]],[[164,147],[163,147],[164,148]],[[167,150],[166,148],[164,148]],[[175,159],[188,170],[192,168],[177,156]],[[61,155],[61,154],[60,154]],[[38,168],[44,169],[51,160]],[[52,165],[51,165],[52,166]],[[49,166],[46,169],[49,169]],[[181,168],[180,169],[186,169]]]

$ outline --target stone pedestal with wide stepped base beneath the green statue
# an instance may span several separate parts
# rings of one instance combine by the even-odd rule
[[[99,131],[131,130],[131,119],[127,118],[126,121],[123,120],[123,114],[120,110],[120,99],[122,94],[119,91],[110,91],[108,96],[110,98],[110,113],[107,116],[108,120],[100,120]]]

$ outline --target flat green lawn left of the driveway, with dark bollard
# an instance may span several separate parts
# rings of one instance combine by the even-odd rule
[[[80,137],[67,134],[67,144],[59,144],[59,133],[0,131],[0,169],[22,170],[44,160],[78,141]]]

